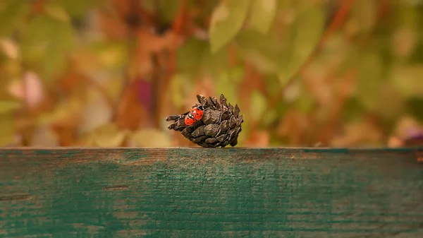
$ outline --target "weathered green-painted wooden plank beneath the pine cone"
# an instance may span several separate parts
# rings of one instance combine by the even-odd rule
[[[2,149],[0,237],[422,238],[417,152]]]

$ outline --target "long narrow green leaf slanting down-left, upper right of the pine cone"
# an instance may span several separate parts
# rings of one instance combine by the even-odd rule
[[[290,43],[287,54],[283,57],[283,70],[279,78],[286,82],[300,69],[309,55],[317,46],[324,30],[324,12],[320,7],[302,11],[298,19],[291,26]]]

